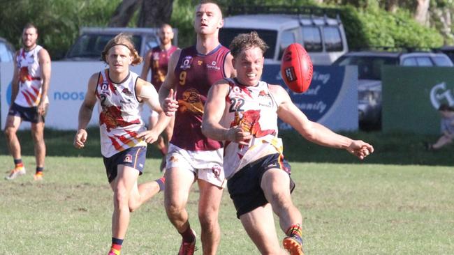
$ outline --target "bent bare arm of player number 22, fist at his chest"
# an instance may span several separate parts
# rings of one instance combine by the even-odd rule
[[[228,91],[229,85],[225,80],[217,82],[208,91],[203,110],[202,132],[206,137],[217,141],[235,141],[247,145],[247,141],[252,138],[249,132],[243,131],[240,127],[225,128],[219,123],[226,108]]]

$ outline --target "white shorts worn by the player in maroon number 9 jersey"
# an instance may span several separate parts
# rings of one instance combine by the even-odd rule
[[[223,151],[223,148],[205,151],[184,150],[169,144],[166,169],[172,167],[187,169],[200,180],[205,180],[217,187],[226,187],[227,180],[222,167]]]

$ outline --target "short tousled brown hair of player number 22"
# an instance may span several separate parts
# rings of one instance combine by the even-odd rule
[[[266,45],[266,42],[258,36],[256,31],[251,33],[240,33],[239,35],[233,38],[230,42],[230,52],[234,58],[240,56],[241,52],[244,52],[246,49],[251,49],[252,47],[258,47],[262,50],[262,54],[265,54],[266,50],[269,48]]]

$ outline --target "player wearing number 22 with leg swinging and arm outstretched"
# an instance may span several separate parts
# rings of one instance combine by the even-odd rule
[[[303,254],[302,217],[293,205],[295,184],[282,164],[277,118],[302,137],[322,146],[344,148],[361,160],[374,151],[364,141],[336,134],[309,121],[285,89],[262,82],[263,54],[267,49],[257,33],[243,33],[230,44],[237,78],[223,79],[208,93],[202,132],[224,141],[224,171],[228,192],[244,229],[261,254],[285,254],[279,247],[272,212],[286,233],[284,248]]]

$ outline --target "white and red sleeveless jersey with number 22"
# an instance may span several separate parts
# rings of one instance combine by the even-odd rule
[[[227,79],[230,89],[226,97],[226,111],[221,119],[224,127],[239,126],[253,138],[244,146],[226,141],[224,171],[230,178],[247,164],[261,157],[282,153],[282,142],[277,137],[277,103],[266,82],[257,86],[243,86],[235,79]]]

